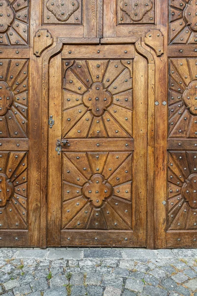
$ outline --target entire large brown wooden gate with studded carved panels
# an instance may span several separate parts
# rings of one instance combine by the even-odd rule
[[[0,246],[197,246],[196,0],[0,0]]]

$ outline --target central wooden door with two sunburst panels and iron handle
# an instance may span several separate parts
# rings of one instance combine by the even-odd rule
[[[145,247],[146,60],[129,44],[65,45],[49,85],[47,245]]]

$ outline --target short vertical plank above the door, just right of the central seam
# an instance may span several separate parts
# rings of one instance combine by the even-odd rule
[[[116,1],[103,2],[103,37],[116,36]]]

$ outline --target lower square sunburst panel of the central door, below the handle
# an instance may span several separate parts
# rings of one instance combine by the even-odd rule
[[[63,152],[63,229],[131,229],[131,152]]]

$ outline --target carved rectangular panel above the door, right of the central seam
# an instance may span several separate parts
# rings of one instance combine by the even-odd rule
[[[117,0],[117,24],[154,24],[154,0]]]

